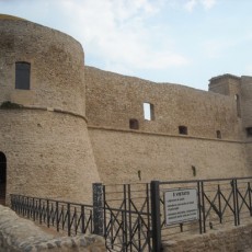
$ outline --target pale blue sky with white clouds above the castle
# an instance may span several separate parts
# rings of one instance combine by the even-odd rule
[[[252,76],[251,0],[0,0],[0,12],[68,33],[85,65],[207,90]]]

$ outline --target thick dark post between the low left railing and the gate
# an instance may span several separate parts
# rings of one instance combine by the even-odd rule
[[[104,236],[103,185],[93,183],[93,226],[94,233]]]

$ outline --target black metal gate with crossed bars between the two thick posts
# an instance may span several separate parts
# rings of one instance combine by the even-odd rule
[[[149,194],[149,184],[103,186],[108,251],[152,251]]]

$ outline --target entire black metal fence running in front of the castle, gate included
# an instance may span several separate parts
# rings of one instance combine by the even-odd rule
[[[12,208],[68,236],[104,236],[108,251],[162,250],[162,242],[183,232],[204,233],[239,226],[252,216],[252,177],[195,181],[152,181],[150,184],[93,185],[93,205],[11,195]],[[179,218],[180,205],[168,208],[167,193],[195,192],[196,218]],[[170,194],[169,194],[170,195]],[[184,201],[182,197],[180,198]],[[191,203],[188,202],[188,205]],[[174,204],[172,205],[174,206]],[[187,206],[187,205],[186,205]],[[174,221],[169,224],[169,210]],[[192,211],[185,206],[183,213]],[[170,213],[170,214],[169,214]],[[177,218],[176,218],[177,217]]]

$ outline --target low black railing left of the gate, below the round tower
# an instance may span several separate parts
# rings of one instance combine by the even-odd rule
[[[19,215],[57,231],[76,236],[93,232],[93,206],[47,198],[11,195],[11,208]]]

